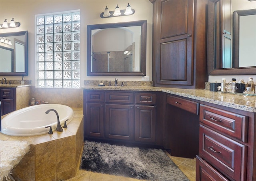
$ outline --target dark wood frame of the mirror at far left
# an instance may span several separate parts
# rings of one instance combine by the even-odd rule
[[[0,72],[0,76],[28,76],[28,31],[0,33],[0,37],[24,35],[24,72]]]

